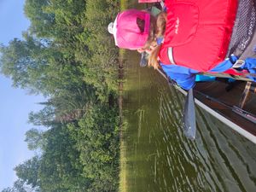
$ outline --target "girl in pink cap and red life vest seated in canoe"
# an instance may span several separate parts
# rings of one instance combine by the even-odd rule
[[[148,66],[162,67],[183,89],[195,85],[197,73],[231,73],[238,60],[228,51],[236,18],[236,1],[166,1],[167,12],[157,17],[147,11],[129,9],[108,25],[119,48],[147,51]],[[247,58],[239,66],[255,73],[256,60]],[[252,78],[253,79],[253,78]],[[253,79],[255,80],[255,79]]]

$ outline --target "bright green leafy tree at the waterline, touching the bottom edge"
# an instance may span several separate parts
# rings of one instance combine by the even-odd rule
[[[94,105],[79,120],[79,129],[69,125],[70,131],[76,132],[73,137],[84,166],[83,175],[92,179],[92,191],[114,191],[118,185],[119,122],[116,113],[114,107]]]

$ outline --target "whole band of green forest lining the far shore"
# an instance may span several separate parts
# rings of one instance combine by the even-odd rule
[[[26,143],[37,153],[2,192],[118,190],[121,79],[107,30],[118,9],[117,0],[26,0],[31,26],[0,46],[0,69],[46,99],[28,119]]]

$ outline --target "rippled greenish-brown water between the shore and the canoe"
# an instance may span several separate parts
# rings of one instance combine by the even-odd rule
[[[256,145],[196,108],[197,135],[182,132],[183,95],[127,54],[125,134],[131,192],[256,191]],[[130,59],[132,58],[132,59]]]

